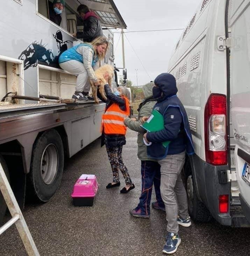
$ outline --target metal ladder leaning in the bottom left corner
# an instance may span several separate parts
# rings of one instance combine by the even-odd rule
[[[9,208],[9,212],[12,216],[8,222],[6,222],[2,227],[0,227],[0,235],[5,232],[10,226],[14,223],[19,232],[19,235],[22,239],[24,247],[29,256],[39,256],[36,245],[33,241],[33,238],[29,232],[29,228],[23,218],[21,209],[17,204],[14,193],[9,185],[8,179],[3,171],[2,165],[0,163],[0,190],[2,192],[3,198]]]

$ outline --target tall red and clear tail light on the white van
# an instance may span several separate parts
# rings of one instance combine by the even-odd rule
[[[227,98],[212,93],[204,112],[206,162],[227,164]]]

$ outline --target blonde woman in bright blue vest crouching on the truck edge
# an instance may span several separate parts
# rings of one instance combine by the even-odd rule
[[[98,37],[90,44],[81,43],[69,50],[64,51],[59,57],[59,66],[77,76],[75,92],[72,99],[76,100],[93,100],[89,96],[90,78],[96,86],[99,80],[95,76],[94,70],[98,69],[101,61],[107,52],[108,41],[106,37]]]

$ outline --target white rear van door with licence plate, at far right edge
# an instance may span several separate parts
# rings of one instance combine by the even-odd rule
[[[233,2],[231,48],[232,122],[236,177],[243,212],[250,222],[250,0]]]

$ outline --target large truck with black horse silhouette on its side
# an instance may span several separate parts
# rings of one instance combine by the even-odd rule
[[[26,194],[48,201],[59,187],[64,156],[101,135],[105,104],[71,102],[76,77],[58,66],[60,52],[79,43],[71,35],[83,29],[79,4],[100,17],[109,41],[103,62],[114,65],[110,28],[126,24],[113,0],[65,0],[60,26],[49,19],[48,0],[9,0],[0,9],[0,162],[20,206]],[[0,221],[5,210],[0,193]]]

